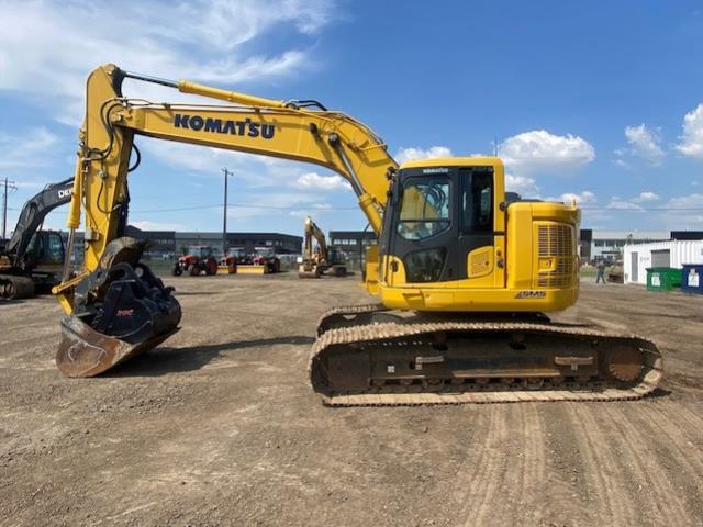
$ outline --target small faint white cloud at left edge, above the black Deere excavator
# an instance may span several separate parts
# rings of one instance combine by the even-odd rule
[[[0,131],[0,169],[45,167],[57,144],[58,137],[41,126],[19,134]]]

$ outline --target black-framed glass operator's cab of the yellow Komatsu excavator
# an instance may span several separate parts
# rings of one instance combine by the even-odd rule
[[[389,285],[469,281],[494,270],[494,167],[431,166],[399,171],[380,244]],[[502,190],[502,189],[501,189]],[[498,235],[500,236],[500,235]]]

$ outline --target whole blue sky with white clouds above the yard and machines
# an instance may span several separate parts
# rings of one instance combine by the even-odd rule
[[[701,1],[0,3],[11,226],[30,195],[72,173],[85,79],[111,61],[319,99],[370,125],[399,160],[490,154],[496,141],[509,189],[577,198],[587,228],[703,229]],[[125,92],[188,100],[135,83]],[[325,229],[365,227],[352,191],[319,167],[138,145],[130,186],[141,227],[219,231],[225,166],[231,231],[300,234],[306,213]],[[60,228],[65,214],[47,224]]]

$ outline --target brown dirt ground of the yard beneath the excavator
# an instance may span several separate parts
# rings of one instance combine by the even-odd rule
[[[55,369],[54,299],[0,305],[0,526],[703,525],[703,296],[559,315],[659,345],[643,401],[331,410],[306,359],[354,279],[168,282],[181,332],[99,379]]]

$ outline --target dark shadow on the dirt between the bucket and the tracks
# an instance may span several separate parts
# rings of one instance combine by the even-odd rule
[[[314,340],[313,337],[297,335],[186,346],[182,348],[164,346],[135,357],[102,377],[158,377],[174,372],[194,371],[216,359],[224,351],[281,344],[311,345]]]

